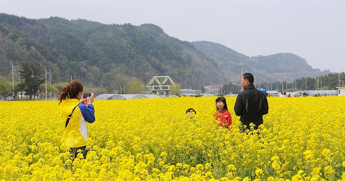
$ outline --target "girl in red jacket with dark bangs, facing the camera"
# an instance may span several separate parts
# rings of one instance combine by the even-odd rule
[[[219,121],[219,126],[226,128],[230,131],[230,125],[233,124],[231,114],[228,111],[228,105],[224,97],[218,97],[216,99],[217,112],[213,114],[216,120]]]

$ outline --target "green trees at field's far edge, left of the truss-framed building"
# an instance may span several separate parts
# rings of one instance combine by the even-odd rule
[[[16,97],[21,99],[28,96],[28,99],[37,99],[39,97],[46,97],[46,80],[45,80],[45,68],[37,61],[34,62],[22,62],[21,68],[18,71],[20,81],[14,82],[14,89],[12,88],[12,82],[5,77],[0,76],[0,95],[3,98]],[[47,83],[47,97],[49,99],[57,98],[60,91],[69,82],[60,82],[50,84]],[[103,93],[122,93],[122,94],[141,94],[145,92],[144,83],[136,78],[129,77],[126,74],[118,75],[115,79],[111,80],[106,87],[84,87],[84,92],[93,92],[95,96]],[[13,96],[14,92],[14,96]]]

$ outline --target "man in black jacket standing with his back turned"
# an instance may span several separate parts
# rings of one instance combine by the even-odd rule
[[[268,113],[268,102],[264,92],[255,89],[254,76],[251,73],[244,73],[241,85],[244,91],[237,96],[235,103],[235,114],[240,117],[242,125],[241,132],[250,129],[250,123],[254,123],[254,129],[258,129],[263,124],[262,115]]]

